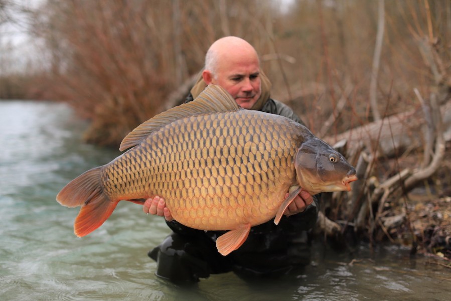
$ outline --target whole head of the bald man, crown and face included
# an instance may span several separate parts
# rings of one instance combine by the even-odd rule
[[[261,95],[257,52],[238,37],[221,38],[210,46],[202,77],[207,85],[223,87],[246,109],[251,108]]]

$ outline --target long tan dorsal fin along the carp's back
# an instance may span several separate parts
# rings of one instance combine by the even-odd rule
[[[139,144],[153,131],[178,119],[196,114],[231,112],[239,109],[239,105],[226,90],[217,85],[209,85],[193,101],[171,108],[138,125],[125,136],[119,150]]]

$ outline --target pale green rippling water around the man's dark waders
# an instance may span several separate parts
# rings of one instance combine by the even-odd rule
[[[160,279],[146,253],[169,234],[162,218],[121,202],[77,238],[78,208],[55,200],[119,154],[83,143],[86,126],[63,104],[0,101],[0,300],[451,300],[449,268],[397,247],[337,254],[318,243],[312,265],[279,279]]]

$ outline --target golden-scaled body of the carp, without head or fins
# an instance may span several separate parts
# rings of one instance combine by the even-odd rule
[[[106,166],[104,190],[113,199],[119,191],[128,198],[162,196],[176,220],[205,230],[268,215],[295,183],[298,135],[278,116],[258,115],[242,110],[168,124]]]

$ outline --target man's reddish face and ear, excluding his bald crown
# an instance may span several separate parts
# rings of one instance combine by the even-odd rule
[[[211,83],[223,87],[242,108],[250,109],[261,95],[258,58],[252,53],[226,55],[219,60]]]

